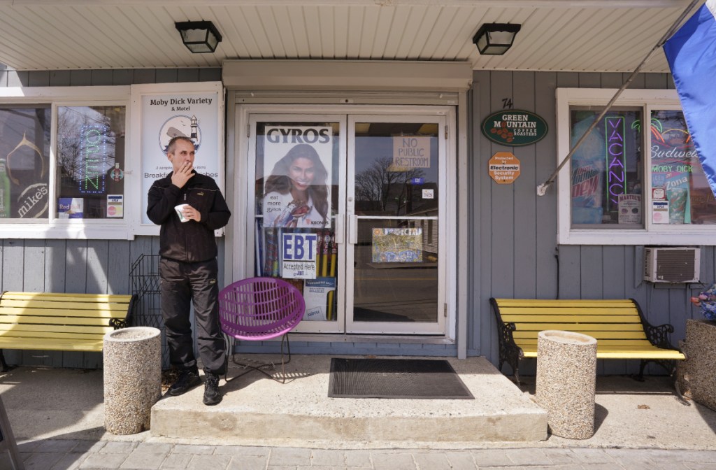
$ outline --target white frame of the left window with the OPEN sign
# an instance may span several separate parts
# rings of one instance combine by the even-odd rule
[[[58,107],[124,106],[125,107],[125,176],[137,168],[139,155],[133,155],[130,133],[130,87],[0,87],[0,105],[50,105],[52,128],[49,153],[49,207],[47,219],[9,219],[0,222],[6,239],[119,239],[130,240],[132,214],[127,211],[132,178],[125,177],[124,217],[122,219],[59,219],[57,217],[57,115]]]

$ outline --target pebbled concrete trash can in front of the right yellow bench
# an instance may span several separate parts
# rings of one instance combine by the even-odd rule
[[[571,331],[537,335],[536,401],[555,436],[594,436],[596,340]]]

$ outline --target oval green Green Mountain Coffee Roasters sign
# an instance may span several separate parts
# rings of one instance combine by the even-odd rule
[[[530,145],[547,135],[547,123],[534,112],[502,110],[483,120],[486,138],[503,145]]]

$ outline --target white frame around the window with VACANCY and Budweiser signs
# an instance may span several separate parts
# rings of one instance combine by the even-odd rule
[[[570,150],[570,107],[606,106],[616,94],[613,89],[558,88],[556,91],[557,164]],[[682,110],[676,90],[624,90],[614,106],[641,107],[644,119],[652,110]],[[642,130],[644,133],[644,130]],[[571,162],[557,178],[557,243],[563,245],[707,245],[712,244],[716,225],[652,223],[651,134],[644,140],[642,198],[644,227],[639,229],[573,229],[571,227]]]

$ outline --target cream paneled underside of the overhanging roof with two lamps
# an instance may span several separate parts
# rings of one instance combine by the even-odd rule
[[[473,69],[630,72],[688,0],[0,0],[0,63],[17,70],[221,67],[226,59],[458,61]],[[213,54],[175,21],[211,20]],[[480,56],[486,22],[522,25]],[[658,52],[644,72],[668,72]]]

